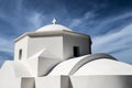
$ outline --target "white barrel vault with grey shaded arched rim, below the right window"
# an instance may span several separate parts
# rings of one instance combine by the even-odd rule
[[[114,57],[103,54],[103,53],[98,53],[98,54],[89,54],[76,58],[72,58],[65,62],[62,62],[58,64],[48,75],[73,75],[76,73],[82,65],[100,59],[100,58],[108,58],[108,59],[116,59]]]

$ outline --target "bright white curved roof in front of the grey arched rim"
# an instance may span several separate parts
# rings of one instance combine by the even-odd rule
[[[101,58],[81,66],[74,76],[79,75],[132,75],[132,66],[121,62]]]

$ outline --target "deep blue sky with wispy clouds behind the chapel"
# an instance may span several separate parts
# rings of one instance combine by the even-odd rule
[[[92,53],[132,64],[132,0],[0,0],[0,66],[13,59],[13,40],[57,18],[92,38]]]

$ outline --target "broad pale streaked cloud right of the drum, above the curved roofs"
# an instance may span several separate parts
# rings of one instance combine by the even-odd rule
[[[132,62],[132,24],[112,34],[96,36],[92,38],[94,53],[109,53],[123,62]]]

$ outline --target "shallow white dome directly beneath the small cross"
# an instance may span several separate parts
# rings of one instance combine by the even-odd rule
[[[64,25],[61,25],[61,24],[50,24],[50,25],[46,25],[46,26],[43,26],[38,30],[36,30],[36,32],[48,32],[48,31],[72,31],[70,29],[64,26]]]

